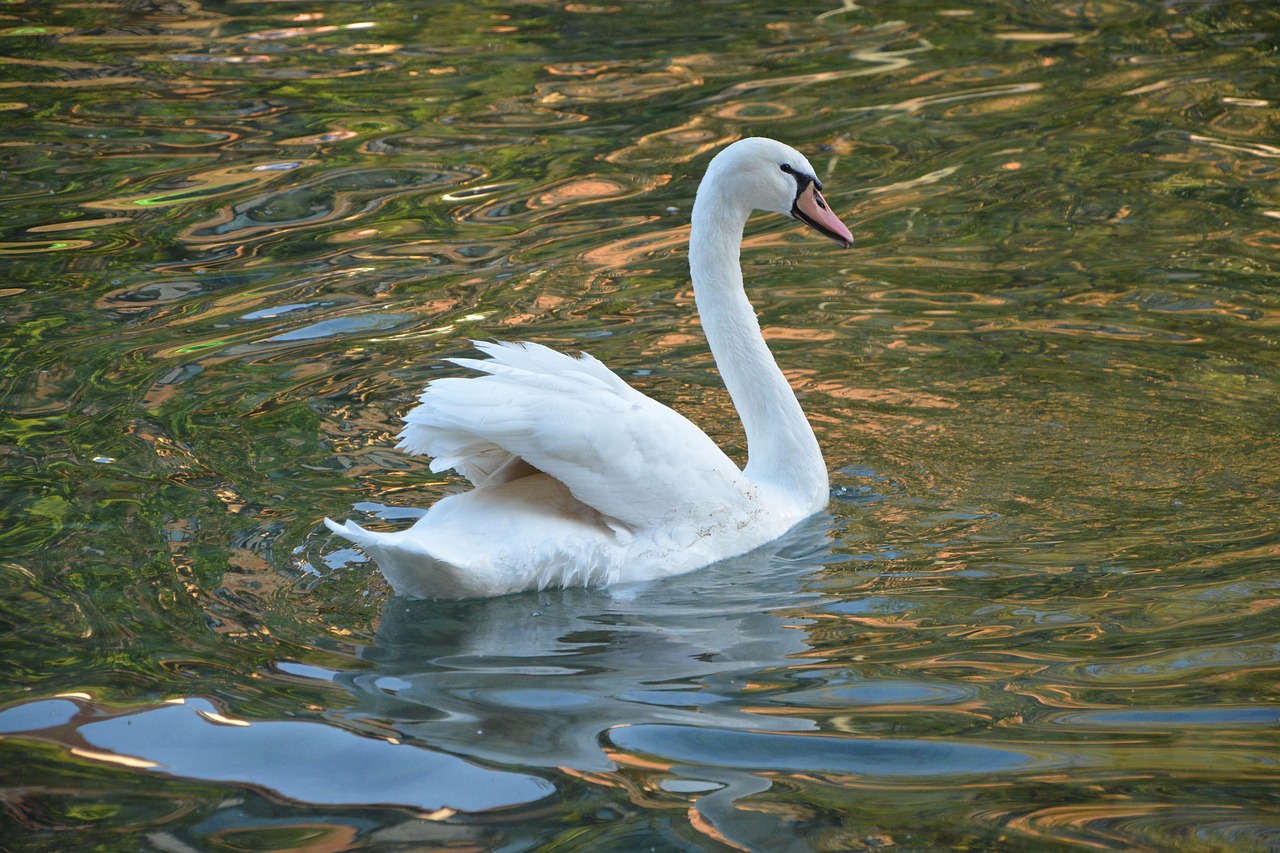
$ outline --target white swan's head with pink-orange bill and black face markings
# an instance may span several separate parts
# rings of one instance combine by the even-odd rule
[[[760,136],[739,140],[707,167],[703,187],[710,186],[722,201],[772,210],[799,219],[845,248],[854,245],[849,228],[822,197],[822,181],[809,160],[790,145]]]

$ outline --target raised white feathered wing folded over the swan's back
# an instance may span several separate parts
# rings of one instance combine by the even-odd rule
[[[700,429],[591,356],[531,343],[476,347],[490,357],[453,361],[485,375],[436,379],[404,418],[399,447],[433,456],[431,470],[453,467],[484,485],[532,465],[632,526],[739,506],[751,492]]]

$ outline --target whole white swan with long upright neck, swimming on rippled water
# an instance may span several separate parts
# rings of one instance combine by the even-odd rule
[[[698,426],[600,361],[535,343],[476,342],[451,359],[480,375],[436,379],[404,416],[401,450],[474,488],[407,530],[325,519],[407,598],[489,598],[652,580],[736,557],[827,506],[827,466],[742,288],[753,210],[799,219],[844,247],[852,234],[795,149],[763,137],[717,154],[694,201],[694,301],[742,419],[739,469]]]

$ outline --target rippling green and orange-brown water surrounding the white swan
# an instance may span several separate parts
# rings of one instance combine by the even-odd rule
[[[9,3],[0,848],[1280,845],[1263,3]],[[829,515],[650,587],[406,602],[325,515],[471,338],[741,433],[712,151]]]

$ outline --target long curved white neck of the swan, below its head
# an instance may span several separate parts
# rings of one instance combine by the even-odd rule
[[[804,514],[827,505],[827,466],[742,289],[739,251],[750,209],[704,182],[694,202],[689,266],[716,365],[746,432],[746,475],[783,491]]]

